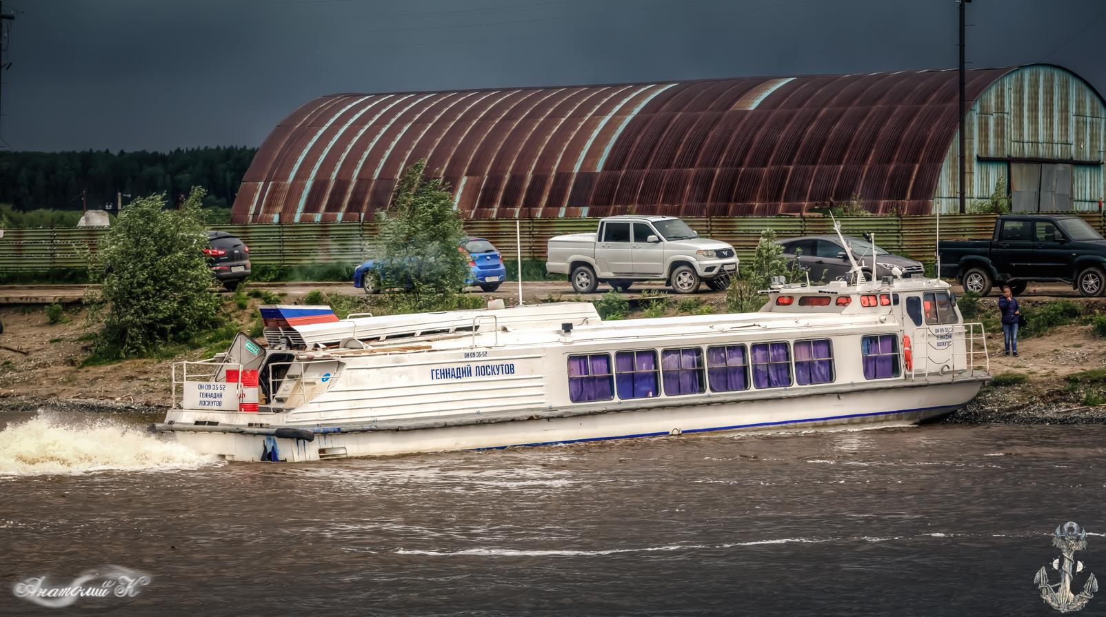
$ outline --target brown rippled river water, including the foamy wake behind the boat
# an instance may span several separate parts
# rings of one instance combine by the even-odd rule
[[[150,418],[0,414],[0,615],[1050,615],[1106,575],[1106,427],[713,435],[220,463]],[[15,597],[107,565],[149,583]],[[1057,573],[1050,567],[1055,582]],[[1081,615],[1106,614],[1106,589]]]

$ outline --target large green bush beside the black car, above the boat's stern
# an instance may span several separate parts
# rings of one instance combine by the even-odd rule
[[[164,195],[136,199],[101,238],[88,264],[101,284],[87,297],[101,322],[93,362],[158,353],[222,324],[200,250],[202,199],[198,187],[179,209],[166,209]]]

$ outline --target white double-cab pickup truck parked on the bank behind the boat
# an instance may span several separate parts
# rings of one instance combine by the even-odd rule
[[[738,271],[733,247],[699,238],[676,217],[608,217],[597,233],[550,239],[545,271],[567,274],[576,293],[599,283],[626,291],[634,281],[666,281],[679,293],[695,293],[700,281],[724,290]]]

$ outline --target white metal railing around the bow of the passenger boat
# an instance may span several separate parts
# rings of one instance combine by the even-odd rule
[[[904,351],[905,354],[905,351]],[[991,373],[987,333],[979,322],[933,325],[915,331],[909,374],[911,379],[927,375]]]

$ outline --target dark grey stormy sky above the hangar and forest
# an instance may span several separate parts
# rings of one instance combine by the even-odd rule
[[[335,92],[953,67],[952,0],[6,0],[12,149],[260,145]],[[975,0],[974,66],[1106,92],[1106,0]],[[2,145],[0,145],[2,147]]]

